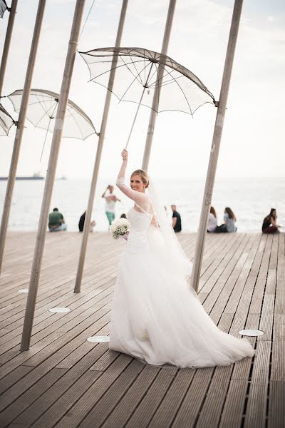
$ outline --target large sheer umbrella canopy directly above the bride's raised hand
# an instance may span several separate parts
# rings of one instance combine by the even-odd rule
[[[161,91],[157,91],[159,103],[157,99],[157,108],[153,108],[157,113],[175,110],[193,114],[204,103],[215,103],[213,94],[192,71],[158,52],[143,48],[102,48],[80,54],[88,65],[90,80],[105,88],[108,88],[113,57],[118,57],[112,92],[119,101],[141,102],[152,108],[152,94],[158,86],[161,87]]]

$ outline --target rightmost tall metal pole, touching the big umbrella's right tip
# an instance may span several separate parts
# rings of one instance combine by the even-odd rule
[[[242,1],[235,0],[234,11],[232,14],[232,24],[229,32],[229,42],[227,45],[227,56],[224,62],[224,73],[222,77],[222,86],[219,94],[219,103],[217,108],[216,122],[214,124],[214,135],[212,139],[211,153],[209,156],[209,165],[206,183],[204,187],[204,196],[202,202],[201,216],[199,221],[199,230],[197,243],[195,247],[195,258],[192,270],[191,285],[198,291],[199,277],[202,266],[204,252],[204,240],[207,232],[209,217],[209,208],[212,202],[212,193],[214,188],[214,178],[216,175],[217,161],[219,157],[219,146],[222,139],[222,128],[224,124],[224,114],[227,106],[227,96],[229,93],[229,83],[232,74],[232,65],[234,62],[234,51],[237,44],[237,34],[239,32],[239,21],[242,14]]]

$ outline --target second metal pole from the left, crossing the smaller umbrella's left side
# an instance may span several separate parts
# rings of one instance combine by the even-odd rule
[[[31,42],[31,51],[30,51],[30,56],[28,58],[28,68],[26,71],[26,79],[24,84],[23,96],[21,99],[21,108],[20,108],[19,119],[18,119],[17,129],[16,129],[16,136],[14,141],[14,148],[13,148],[13,153],[11,158],[9,178],[7,182],[4,208],[3,208],[2,220],[1,220],[1,229],[0,229],[0,272],[1,272],[1,266],[3,261],[3,255],[4,255],[6,233],[7,233],[9,215],[11,210],[11,200],[12,200],[14,184],[15,184],[16,170],[17,170],[17,165],[19,161],[21,141],[24,133],[26,111],[28,108],[28,97],[30,95],[30,90],[31,90],[31,79],[33,77],[33,68],[35,66],[35,61],[36,61],[36,52],[38,49],[38,41],[41,34],[41,24],[43,22],[43,13],[44,13],[45,6],[46,6],[46,0],[40,0],[38,2],[36,24],[33,30],[33,40]]]

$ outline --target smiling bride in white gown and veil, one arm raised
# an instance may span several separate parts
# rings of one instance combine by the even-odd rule
[[[130,234],[120,260],[110,327],[110,349],[152,365],[229,365],[254,350],[247,340],[222,332],[190,290],[186,258],[144,170],[125,185],[128,151],[117,185],[134,201]],[[147,189],[147,193],[145,190]]]

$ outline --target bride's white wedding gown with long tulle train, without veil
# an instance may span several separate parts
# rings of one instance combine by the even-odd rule
[[[222,332],[186,280],[162,263],[148,237],[151,216],[132,208],[131,232],[120,260],[110,327],[110,349],[152,365],[229,365],[254,350]]]

